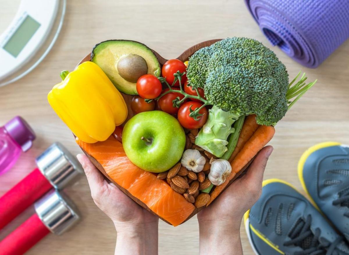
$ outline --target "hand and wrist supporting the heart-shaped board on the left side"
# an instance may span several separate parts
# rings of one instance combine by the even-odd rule
[[[86,155],[76,158],[84,168],[95,204],[114,223],[118,233],[115,254],[157,254],[158,217],[108,183]]]

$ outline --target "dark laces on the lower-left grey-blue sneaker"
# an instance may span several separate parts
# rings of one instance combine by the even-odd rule
[[[300,219],[296,223],[289,237],[291,240],[286,241],[284,246],[299,246],[303,250],[296,252],[294,255],[335,255],[337,245],[342,241],[342,237],[338,237],[334,242],[322,244],[319,242],[321,230],[316,228],[314,233],[310,230],[311,215],[308,215],[305,220]]]

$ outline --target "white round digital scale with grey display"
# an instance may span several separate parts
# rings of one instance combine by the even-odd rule
[[[61,30],[66,0],[21,0],[0,35],[0,86],[17,81],[49,53]]]

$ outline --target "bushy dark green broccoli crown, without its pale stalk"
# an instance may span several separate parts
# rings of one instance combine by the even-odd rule
[[[275,125],[288,110],[286,67],[254,39],[227,38],[201,48],[189,59],[187,77],[210,104],[236,115],[254,113],[261,125]]]

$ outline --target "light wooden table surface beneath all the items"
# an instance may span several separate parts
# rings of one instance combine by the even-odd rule
[[[0,0],[0,32],[12,20],[18,3]],[[74,155],[81,152],[69,129],[47,103],[46,95],[60,81],[59,72],[72,70],[96,43],[132,39],[165,58],[175,58],[196,43],[232,36],[255,38],[271,47],[242,0],[68,1],[64,26],[52,51],[30,74],[0,88],[0,126],[21,115],[37,134],[32,149],[0,176],[0,195],[27,175],[35,167],[35,157],[53,142],[60,141]],[[302,190],[296,168],[307,147],[329,140],[349,144],[349,41],[317,69],[300,66],[277,47],[272,50],[291,77],[302,70],[310,81],[318,79],[277,124],[270,143],[275,149],[265,173],[265,179],[280,178]],[[5,64],[0,60],[0,65]],[[111,220],[92,201],[86,177],[65,192],[80,209],[81,222],[61,236],[48,235],[28,254],[113,254],[116,232]],[[33,212],[28,209],[1,230],[0,240]],[[244,253],[253,254],[243,225],[241,235]],[[198,242],[196,217],[176,228],[159,223],[159,254],[198,254]]]

